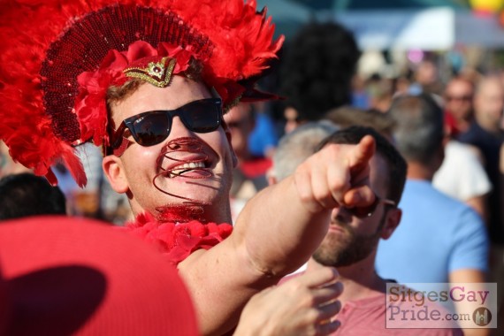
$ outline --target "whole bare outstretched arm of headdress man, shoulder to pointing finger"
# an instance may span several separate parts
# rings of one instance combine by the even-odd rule
[[[327,146],[300,165],[294,176],[251,199],[233,234],[209,251],[179,264],[203,334],[229,331],[248,299],[306,262],[325,236],[339,202],[366,206],[374,140]]]

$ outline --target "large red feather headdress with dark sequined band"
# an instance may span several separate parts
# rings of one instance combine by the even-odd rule
[[[190,57],[225,106],[268,96],[254,82],[283,37],[250,0],[5,0],[0,2],[0,138],[20,164],[57,180],[63,162],[86,176],[73,145],[109,144],[104,90],[149,57]]]

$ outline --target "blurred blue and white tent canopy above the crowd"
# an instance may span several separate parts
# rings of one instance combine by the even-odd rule
[[[434,2],[449,6],[429,5]],[[336,8],[342,3],[346,7]],[[477,15],[463,0],[259,0],[258,4],[267,5],[277,33],[285,34],[287,40],[309,21],[332,20],[351,30],[362,50],[504,48],[504,28],[496,16]],[[400,8],[399,4],[404,5]]]

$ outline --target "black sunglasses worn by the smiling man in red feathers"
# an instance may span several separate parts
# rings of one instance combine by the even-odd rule
[[[112,135],[111,148],[120,146],[126,128],[139,145],[157,145],[170,135],[174,117],[179,117],[191,132],[213,132],[221,124],[222,101],[219,98],[201,99],[172,111],[148,111],[126,118]]]

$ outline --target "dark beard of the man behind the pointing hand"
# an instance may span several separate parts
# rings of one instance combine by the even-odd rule
[[[337,237],[328,233],[313,254],[313,259],[317,263],[332,267],[349,266],[360,262],[370,256],[377,247],[385,217],[386,213],[381,218],[377,231],[370,235],[355,233],[349,225],[336,224],[345,231],[344,236]]]

